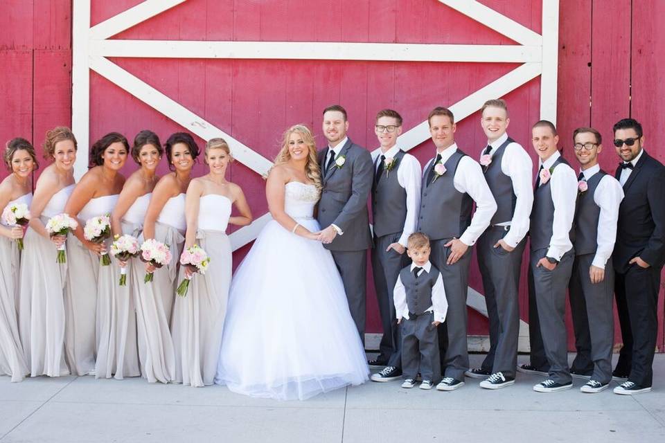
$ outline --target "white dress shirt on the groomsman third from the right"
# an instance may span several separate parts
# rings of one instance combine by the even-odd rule
[[[556,151],[549,159],[544,162],[539,160],[538,163],[544,169],[549,170],[560,156],[561,154]],[[560,163],[554,168],[550,181],[549,188],[554,204],[554,221],[552,238],[549,241],[549,249],[546,256],[561,260],[561,257],[573,247],[573,244],[570,242],[570,228],[573,226],[573,219],[575,218],[577,177],[573,168],[565,163]],[[540,186],[543,184],[541,182]]]

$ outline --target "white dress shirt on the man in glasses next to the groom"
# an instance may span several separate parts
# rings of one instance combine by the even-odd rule
[[[379,168],[380,161],[378,161],[378,159],[380,159],[382,155],[394,158],[399,150],[400,148],[395,145],[385,153],[381,152],[381,150],[373,152],[372,161],[374,163],[374,172],[376,173]],[[387,170],[383,171],[384,174],[387,172]],[[409,235],[416,232],[416,226],[418,224],[420,186],[422,184],[422,180],[420,179],[422,175],[420,162],[411,154],[404,154],[402,161],[397,165],[397,170],[393,172],[397,172],[397,182],[407,192],[407,217],[404,220],[404,230],[402,230],[402,235],[400,235],[398,241],[399,244],[406,248],[407,239],[409,238]]]

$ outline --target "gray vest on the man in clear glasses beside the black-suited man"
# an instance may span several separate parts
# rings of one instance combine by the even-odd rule
[[[575,255],[592,254],[598,248],[598,218],[601,207],[596,205],[594,194],[598,183],[607,172],[600,170],[587,181],[587,190],[578,192],[575,206]]]

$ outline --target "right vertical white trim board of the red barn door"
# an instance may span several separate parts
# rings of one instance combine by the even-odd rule
[[[542,0],[542,75],[540,118],[556,125],[559,54],[559,0]]]

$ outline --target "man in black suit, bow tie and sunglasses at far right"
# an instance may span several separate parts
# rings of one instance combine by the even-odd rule
[[[665,262],[665,167],[644,149],[641,125],[624,118],[614,125],[621,163],[614,175],[626,197],[619,206],[614,271],[623,348],[614,368],[628,381],[615,394],[651,390],[658,328],[660,272]]]

